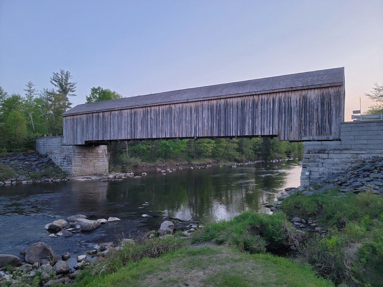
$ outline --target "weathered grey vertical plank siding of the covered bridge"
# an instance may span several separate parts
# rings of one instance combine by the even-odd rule
[[[64,144],[97,140],[278,135],[337,140],[344,86],[234,96],[64,117]]]

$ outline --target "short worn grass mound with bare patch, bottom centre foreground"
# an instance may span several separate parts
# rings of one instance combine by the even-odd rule
[[[218,268],[219,266],[219,268]],[[270,254],[248,254],[224,246],[181,248],[159,258],[128,263],[105,276],[86,276],[75,287],[289,286],[327,287],[311,268]]]

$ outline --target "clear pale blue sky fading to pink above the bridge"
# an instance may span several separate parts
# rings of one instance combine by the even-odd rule
[[[383,1],[0,0],[0,86],[124,96],[345,67],[345,119],[383,84]],[[358,95],[360,94],[360,95]],[[355,96],[357,95],[357,96]]]

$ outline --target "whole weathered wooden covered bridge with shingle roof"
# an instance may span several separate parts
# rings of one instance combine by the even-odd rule
[[[344,68],[80,104],[62,114],[64,145],[114,140],[278,137],[339,140]]]

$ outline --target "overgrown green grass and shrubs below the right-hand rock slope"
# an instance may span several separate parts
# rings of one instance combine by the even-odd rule
[[[328,228],[298,246],[298,258],[321,276],[349,286],[383,286],[383,198],[372,192],[294,194],[281,205],[290,217],[317,218]]]

